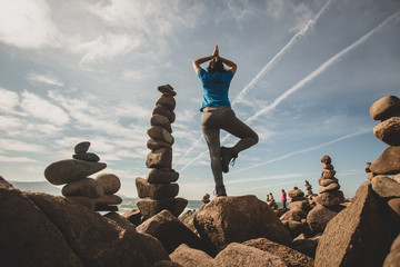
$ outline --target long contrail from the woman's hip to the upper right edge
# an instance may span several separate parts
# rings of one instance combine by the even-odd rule
[[[394,14],[390,16],[389,18],[387,18],[383,22],[381,22],[379,26],[377,26],[374,29],[372,29],[371,31],[369,31],[367,34],[364,34],[363,37],[361,37],[359,40],[357,40],[356,42],[353,42],[352,44],[350,44],[349,47],[344,48],[343,50],[341,50],[340,52],[338,52],[337,55],[334,55],[332,58],[330,58],[329,60],[327,60],[326,62],[323,62],[318,69],[316,69],[314,71],[312,71],[310,75],[308,75],[306,78],[303,78],[302,80],[298,81],[293,87],[291,87],[289,90],[284,91],[281,96],[279,96],[271,105],[264,107],[263,109],[259,110],[258,112],[256,112],[253,116],[251,116],[249,119],[246,120],[246,123],[251,122],[252,120],[254,120],[257,117],[259,117],[260,115],[263,115],[268,111],[273,110],[279,103],[281,103],[284,99],[287,99],[290,95],[292,95],[293,92],[296,92],[297,90],[299,90],[301,87],[303,87],[304,85],[307,85],[308,82],[312,81],[317,76],[319,76],[320,73],[322,73],[323,71],[326,71],[331,65],[336,63],[337,61],[339,61],[339,59],[341,59],[344,55],[347,55],[348,52],[350,52],[352,49],[357,48],[358,46],[362,44],[366,40],[368,40],[368,38],[370,38],[372,34],[374,34],[376,32],[378,32],[380,29],[382,29],[383,26],[386,26],[387,23],[389,23],[391,20],[396,19],[396,17],[398,17],[400,14],[399,12],[396,12]]]

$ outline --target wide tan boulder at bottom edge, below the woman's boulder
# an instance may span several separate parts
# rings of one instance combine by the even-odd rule
[[[278,256],[238,243],[229,244],[214,258],[218,267],[286,267]]]

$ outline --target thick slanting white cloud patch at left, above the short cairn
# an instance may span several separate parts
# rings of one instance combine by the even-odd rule
[[[49,121],[57,126],[62,126],[70,121],[68,113],[63,109],[50,103],[34,93],[26,90],[22,92],[21,97],[21,108],[30,116]]]

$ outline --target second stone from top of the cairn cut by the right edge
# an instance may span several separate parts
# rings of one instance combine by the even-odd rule
[[[391,117],[373,128],[373,135],[389,146],[400,146],[400,117]]]

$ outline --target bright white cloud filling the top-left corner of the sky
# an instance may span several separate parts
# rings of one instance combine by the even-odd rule
[[[19,48],[58,46],[58,32],[43,0],[0,1],[0,41]]]

